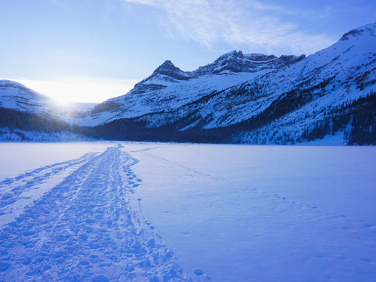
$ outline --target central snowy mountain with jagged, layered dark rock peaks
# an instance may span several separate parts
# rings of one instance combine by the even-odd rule
[[[212,91],[221,91],[249,80],[255,76],[254,73],[282,68],[304,58],[305,55],[277,58],[273,55],[232,51],[191,72],[182,71],[171,61],[165,61],[127,94],[100,103],[93,109],[90,117],[76,121],[85,125],[97,125],[118,118],[172,111]]]

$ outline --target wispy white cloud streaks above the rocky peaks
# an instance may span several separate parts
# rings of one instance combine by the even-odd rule
[[[217,49],[221,42],[267,53],[307,55],[338,38],[309,34],[285,20],[293,12],[256,0],[123,0],[159,8],[183,38]]]

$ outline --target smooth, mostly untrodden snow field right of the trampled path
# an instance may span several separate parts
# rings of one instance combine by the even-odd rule
[[[129,153],[140,160],[143,213],[186,273],[200,269],[213,281],[376,275],[373,147],[151,144]]]

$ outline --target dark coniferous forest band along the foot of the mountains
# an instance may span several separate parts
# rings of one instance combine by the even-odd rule
[[[2,107],[0,107],[0,129],[18,134],[21,140],[30,139],[24,135],[23,132],[26,131],[71,132],[87,138],[121,141],[236,143],[233,136],[257,130],[276,118],[311,102],[314,89],[302,89],[300,86],[282,95],[258,115],[229,126],[211,129],[203,129],[205,121],[199,121],[194,127],[179,130],[182,124],[192,122],[192,117],[159,127],[148,127],[146,121],[139,118],[122,118],[95,127],[77,126],[62,120]],[[306,128],[301,139],[306,141],[322,139],[338,131],[344,133],[348,145],[376,145],[376,93],[374,91],[332,108],[326,113],[324,120],[317,121],[311,129]]]

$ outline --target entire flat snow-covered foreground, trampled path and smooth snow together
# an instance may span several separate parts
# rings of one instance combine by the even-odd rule
[[[0,150],[0,280],[376,275],[374,147],[81,142]]]

